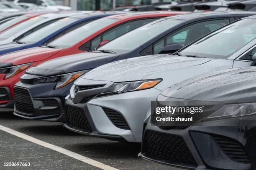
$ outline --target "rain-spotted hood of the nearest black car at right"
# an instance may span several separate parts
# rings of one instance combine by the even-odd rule
[[[165,97],[224,103],[255,102],[256,67],[210,72],[173,85]]]

